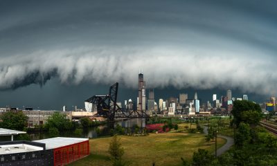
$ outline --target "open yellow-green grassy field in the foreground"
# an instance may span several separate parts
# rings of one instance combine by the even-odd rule
[[[214,151],[214,142],[207,145],[204,134],[201,133],[150,133],[149,136],[118,136],[125,149],[123,160],[130,166],[152,165],[181,165],[181,157],[190,160],[198,148]],[[110,138],[89,140],[91,154],[71,165],[111,165],[108,149]],[[218,147],[226,140],[217,138]]]

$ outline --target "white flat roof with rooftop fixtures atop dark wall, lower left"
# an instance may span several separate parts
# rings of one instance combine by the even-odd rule
[[[0,145],[0,154],[17,154],[28,151],[43,150],[43,147],[36,147],[26,144]]]

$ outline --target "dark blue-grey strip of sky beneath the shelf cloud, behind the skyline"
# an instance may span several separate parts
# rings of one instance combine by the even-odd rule
[[[10,105],[11,107],[32,107],[33,109],[39,110],[62,110],[62,107],[65,105],[67,110],[72,110],[72,106],[77,105],[78,109],[84,109],[84,100],[87,100],[93,95],[107,95],[109,93],[110,85],[98,85],[98,89],[91,89],[95,85],[84,84],[82,86],[57,86],[59,91],[48,91],[50,89],[50,84],[55,84],[55,82],[47,82],[44,86],[40,87],[38,85],[31,85],[26,87],[21,87],[15,91],[2,91],[0,95],[0,107],[6,107]],[[147,84],[147,82],[146,82]],[[31,89],[37,89],[37,91],[29,93]],[[74,91],[72,91],[75,89]],[[266,102],[269,100],[270,96],[261,96],[253,93],[242,93],[238,89],[232,90],[232,98],[242,98],[242,95],[247,94],[249,100],[257,103]],[[95,93],[93,93],[95,92]],[[206,89],[206,90],[195,90],[195,89],[174,89],[172,87],[166,87],[164,89],[154,89],[154,99],[157,104],[159,104],[159,99],[167,100],[170,97],[179,98],[180,93],[188,93],[188,98],[193,99],[195,92],[197,92],[198,98],[202,102],[207,102],[208,100],[212,102],[213,94],[217,94],[217,100],[220,100],[220,97],[226,95],[226,90],[221,89]],[[12,93],[12,98],[3,98],[5,93]],[[28,95],[29,93],[29,95]],[[66,98],[62,98],[62,94],[66,95]],[[42,95],[42,96],[39,96]],[[46,97],[44,96],[46,95]],[[119,83],[118,86],[118,102],[124,104],[124,100],[132,99],[133,102],[136,102],[138,95],[138,89],[126,89],[123,85]],[[148,88],[146,87],[146,95],[148,98]],[[76,97],[74,97],[76,96]],[[82,98],[81,98],[82,97]],[[41,98],[41,99],[39,99]],[[46,100],[51,99],[50,103]],[[41,101],[39,101],[39,100]],[[60,101],[59,101],[60,100]],[[5,104],[3,104],[5,103]],[[9,104],[10,103],[10,104]],[[64,104],[63,104],[64,103]]]

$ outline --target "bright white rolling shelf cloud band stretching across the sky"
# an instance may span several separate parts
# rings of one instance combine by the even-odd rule
[[[0,88],[16,89],[28,84],[43,85],[51,77],[61,84],[120,82],[136,88],[142,68],[148,87],[177,89],[238,88],[267,94],[276,89],[277,75],[271,72],[274,59],[233,53],[198,53],[178,48],[77,48],[39,51],[1,60]],[[267,85],[267,86],[265,86]]]

